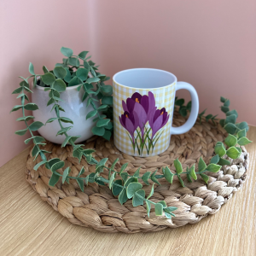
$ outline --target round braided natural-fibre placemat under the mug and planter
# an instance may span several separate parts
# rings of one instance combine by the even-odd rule
[[[178,113],[174,113],[173,125],[180,126],[185,121],[186,119]],[[221,125],[213,125],[202,120],[201,124],[197,121],[189,132],[182,135],[172,135],[170,147],[166,152],[148,158],[123,154],[114,147],[113,141],[105,141],[102,137],[90,138],[84,143],[84,148],[95,148],[96,160],[108,157],[107,164],[109,165],[116,158],[119,158],[117,171],[121,165],[128,162],[127,170],[131,175],[136,172],[139,166],[142,166],[141,174],[148,171],[153,172],[156,168],[159,168],[156,174],[162,174],[161,168],[163,166],[169,166],[171,170],[175,170],[173,161],[177,157],[183,168],[195,164],[195,171],[197,171],[200,157],[208,164],[215,143],[223,142],[226,136],[227,133]],[[237,160],[230,160],[230,166],[223,166],[218,173],[207,173],[209,176],[208,184],[204,183],[201,177],[198,177],[198,180],[193,183],[188,183],[184,177],[186,187],[183,188],[174,177],[172,184],[167,183],[162,178],[160,180],[161,186],[155,185],[154,195],[150,200],[155,202],[165,200],[168,207],[177,207],[174,212],[176,217],[172,219],[167,219],[164,216],[156,217],[153,205],[150,218],[148,218],[145,204],[144,206],[132,207],[131,200],[129,200],[124,205],[120,205],[117,197],[112,195],[108,187],[96,183],[89,183],[88,186],[84,187],[84,193],[74,180],[70,180],[70,184],[61,184],[60,179],[55,187],[50,187],[48,183],[51,172],[45,166],[40,166],[35,172],[33,166],[40,160],[33,161],[31,152],[26,164],[26,180],[41,196],[42,200],[47,201],[55,211],[60,212],[73,224],[91,227],[103,232],[153,232],[166,228],[177,228],[185,224],[195,224],[208,214],[218,212],[221,206],[241,188],[241,183],[247,177],[248,154],[244,147],[241,148],[241,156]],[[82,166],[85,169],[82,177],[95,171],[95,166],[88,165],[84,159],[79,163],[78,159],[73,158],[71,146],[61,148],[61,145],[47,143],[44,149],[51,152],[47,155],[49,159],[58,157],[65,161],[63,170],[70,166],[72,169],[71,176],[77,176]],[[108,177],[108,173],[103,172],[102,176]],[[148,195],[151,186],[144,185],[143,189]]]

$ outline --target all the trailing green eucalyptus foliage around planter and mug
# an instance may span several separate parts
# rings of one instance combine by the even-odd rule
[[[128,166],[121,166],[119,172],[116,171],[116,164],[118,163],[118,159],[113,162],[111,167],[106,166],[108,158],[104,158],[100,161],[97,161],[92,153],[95,152],[93,149],[84,149],[83,144],[75,144],[75,141],[79,136],[68,136],[67,132],[72,129],[72,126],[63,127],[62,123],[70,123],[73,125],[73,121],[64,116],[61,116],[61,112],[65,112],[63,108],[61,108],[59,102],[61,101],[61,93],[66,90],[67,86],[79,85],[78,90],[84,89],[83,100],[87,98],[87,107],[89,105],[94,108],[93,111],[88,113],[87,118],[91,118],[96,116],[96,126],[93,128],[93,132],[96,135],[100,135],[109,139],[111,137],[111,131],[113,131],[113,125],[110,119],[112,119],[112,87],[110,85],[105,85],[104,81],[108,80],[105,75],[97,72],[97,67],[95,63],[92,61],[87,61],[90,57],[86,58],[88,52],[83,51],[79,55],[73,55],[73,50],[68,48],[61,48],[61,52],[63,55],[67,56],[67,58],[63,59],[62,63],[57,63],[53,71],[49,71],[47,67],[43,67],[44,74],[38,75],[34,73],[34,68],[32,63],[29,65],[29,71],[32,73],[30,77],[27,79],[22,79],[20,82],[20,87],[17,88],[13,93],[19,94],[17,98],[20,98],[21,104],[15,106],[11,112],[17,111],[22,108],[22,117],[17,119],[18,121],[24,121],[26,124],[26,129],[16,131],[15,133],[18,135],[24,135],[26,131],[29,131],[32,137],[26,139],[25,143],[29,143],[31,140],[34,143],[34,147],[32,148],[32,156],[34,160],[38,159],[38,155],[41,157],[41,161],[38,162],[37,165],[34,166],[34,170],[38,170],[40,166],[45,165],[46,168],[51,170],[52,176],[49,179],[49,185],[55,186],[61,177],[62,183],[69,183],[70,179],[76,180],[79,184],[79,188],[84,191],[84,184],[88,185],[88,183],[98,183],[99,185],[107,185],[109,189],[112,189],[113,195],[118,196],[119,202],[124,204],[128,199],[132,199],[132,205],[137,207],[139,205],[143,205],[146,203],[147,212],[149,216],[149,212],[151,210],[151,205],[154,205],[154,211],[157,216],[162,215],[163,213],[166,215],[166,218],[172,218],[175,216],[173,211],[177,210],[177,207],[167,207],[165,201],[159,201],[155,203],[154,201],[150,201],[149,198],[154,195],[154,184],[152,186],[151,192],[148,197],[145,196],[145,191],[143,190],[143,184],[139,181],[143,181],[146,185],[149,185],[148,180],[150,179],[153,183],[157,183],[160,185],[159,179],[166,178],[166,181],[172,183],[173,177],[177,176],[179,182],[184,187],[185,184],[183,182],[182,174],[185,174],[187,180],[192,182],[193,179],[197,179],[197,175],[200,175],[202,179],[207,183],[209,177],[204,172],[218,172],[223,165],[230,164],[229,160],[224,159],[224,155],[227,154],[232,159],[236,159],[241,154],[241,148],[236,147],[238,145],[246,145],[247,143],[251,143],[247,137],[247,123],[242,122],[240,124],[235,124],[234,117],[229,118],[229,116],[235,114],[236,110],[229,110],[229,101],[221,98],[221,101],[224,102],[223,110],[226,111],[227,118],[222,121],[224,125],[224,129],[228,131],[229,129],[235,129],[233,135],[230,134],[226,137],[224,143],[228,148],[225,148],[224,143],[218,142],[214,148],[215,155],[212,157],[210,164],[207,166],[204,160],[200,159],[198,164],[198,172],[195,172],[195,165],[190,168],[187,167],[186,172],[183,172],[183,167],[181,162],[177,159],[174,160],[174,166],[176,173],[172,173],[171,170],[165,166],[162,168],[163,174],[156,175],[158,170],[154,172],[145,172],[143,176],[140,176],[140,168],[137,171],[130,175],[128,172],[125,172],[125,168]],[[83,64],[80,64],[80,61]],[[89,73],[91,74],[89,76]],[[39,79],[37,80],[37,77]],[[28,79],[33,78],[34,84],[38,83],[39,86],[44,86],[46,91],[49,91],[49,105],[53,105],[52,110],[55,110],[55,118],[48,119],[46,124],[51,123],[53,121],[57,121],[60,125],[60,131],[57,132],[57,135],[65,135],[66,139],[62,143],[62,147],[65,147],[67,143],[71,144],[73,147],[73,157],[76,157],[81,160],[83,157],[90,165],[96,166],[96,171],[91,172],[89,175],[84,177],[84,166],[81,168],[79,174],[76,177],[69,176],[71,171],[70,167],[67,167],[64,172],[61,174],[59,170],[65,166],[65,162],[61,161],[58,158],[47,160],[46,154],[50,152],[43,149],[45,145],[44,137],[34,136],[33,131],[38,131],[40,127],[44,124],[42,122],[36,121],[31,125],[28,125],[27,121],[33,119],[33,116],[26,116],[25,110],[37,110],[38,106],[35,103],[28,102],[25,104],[25,101],[28,101],[28,96],[26,92],[32,92],[29,89]],[[111,89],[110,89],[110,87]],[[102,101],[102,105],[100,107],[96,107],[96,103],[98,100]],[[180,101],[182,100],[182,101]],[[190,111],[191,104],[187,104],[183,106],[183,99],[177,100],[177,106],[180,107],[180,113],[186,114],[187,111]],[[179,101],[179,102],[178,102]],[[184,108],[185,107],[185,108]],[[102,114],[102,112],[106,114]],[[229,113],[230,112],[230,113]],[[203,117],[203,113],[199,115],[200,119]],[[206,117],[207,121],[212,119],[214,123],[214,119],[216,116]],[[237,115],[236,115],[237,117]],[[233,125],[230,125],[233,124]],[[230,128],[231,127],[231,128]],[[232,130],[232,131],[233,131]],[[104,132],[103,132],[104,131]],[[101,173],[104,169],[108,170],[108,178],[102,177]]]

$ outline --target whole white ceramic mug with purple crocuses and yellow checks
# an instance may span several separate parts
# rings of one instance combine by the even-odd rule
[[[181,89],[189,90],[192,108],[184,125],[172,127],[175,93]],[[147,157],[163,153],[172,134],[193,127],[198,109],[195,88],[177,82],[172,73],[134,68],[113,76],[113,141],[125,154]]]

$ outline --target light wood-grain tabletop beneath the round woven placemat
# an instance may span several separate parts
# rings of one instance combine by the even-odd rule
[[[247,181],[218,213],[134,235],[100,233],[61,217],[26,183],[26,149],[0,168],[0,255],[255,255],[256,127],[247,137],[254,142],[247,145]]]

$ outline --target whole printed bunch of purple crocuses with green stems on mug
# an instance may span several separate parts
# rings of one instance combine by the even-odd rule
[[[143,96],[135,92],[126,99],[126,102],[122,101],[122,106],[124,113],[119,117],[119,121],[131,135],[129,137],[134,152],[136,147],[140,155],[143,154],[143,148],[146,148],[148,154],[150,148],[153,152],[161,135],[158,131],[166,125],[170,116],[166,108],[157,109],[154,94],[151,91]]]

